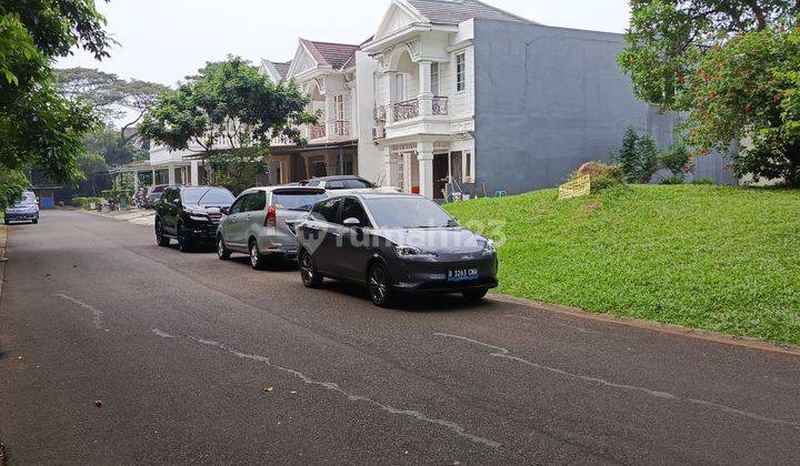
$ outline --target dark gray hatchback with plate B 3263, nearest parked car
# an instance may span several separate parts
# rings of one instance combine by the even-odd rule
[[[498,285],[490,240],[411,194],[347,194],[318,202],[298,225],[300,275],[367,285],[379,306],[403,293],[461,293],[479,301]]]

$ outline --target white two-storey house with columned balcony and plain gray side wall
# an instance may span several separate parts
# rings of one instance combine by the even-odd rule
[[[617,65],[623,47],[621,34],[547,27],[478,0],[392,0],[361,47],[374,79],[358,97],[374,102],[377,151],[360,152],[360,174],[432,199],[450,181],[512,194],[608,160],[628,125],[666,146],[676,116],[636,99]],[[720,166],[701,161],[699,175],[728,181]]]

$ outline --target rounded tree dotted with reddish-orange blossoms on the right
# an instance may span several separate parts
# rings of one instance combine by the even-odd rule
[[[792,131],[800,73],[800,30],[746,32],[709,50],[688,89],[688,141],[701,154],[742,140],[731,168],[738,176],[783,179],[800,185],[800,134]],[[784,99],[789,98],[786,102]]]

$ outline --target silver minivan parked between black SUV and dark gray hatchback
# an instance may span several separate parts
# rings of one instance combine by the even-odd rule
[[[296,259],[294,225],[328,194],[320,188],[269,186],[244,191],[223,209],[217,230],[217,254],[227,261],[237,252],[250,256],[253,269],[262,269],[268,259]]]

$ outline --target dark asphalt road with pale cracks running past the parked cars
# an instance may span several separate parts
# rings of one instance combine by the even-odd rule
[[[492,301],[381,310],[152,236],[10,227],[11,464],[800,463],[799,356]]]

